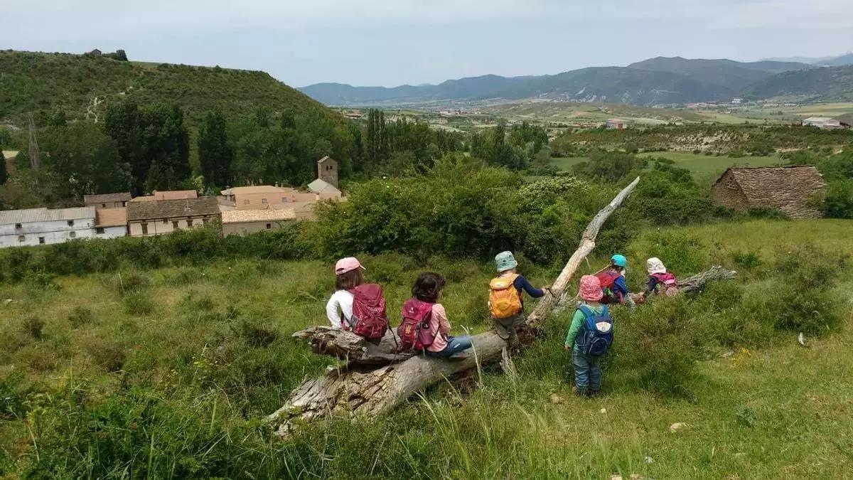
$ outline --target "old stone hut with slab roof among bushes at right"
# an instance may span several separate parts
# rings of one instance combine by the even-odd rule
[[[814,219],[821,211],[809,199],[826,186],[815,167],[732,167],[717,179],[711,197],[734,210],[777,208],[792,219]]]

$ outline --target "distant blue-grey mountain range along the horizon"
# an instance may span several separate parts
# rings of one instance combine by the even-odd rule
[[[838,57],[842,61],[844,57]],[[838,67],[844,68],[844,67]],[[809,73],[823,70],[796,61],[733,61],[657,57],[627,67],[588,67],[554,75],[502,77],[483,75],[447,80],[438,85],[402,85],[393,88],[316,84],[299,91],[327,105],[401,105],[426,102],[484,102],[489,100],[547,99],[566,102],[623,102],[635,105],[720,102],[797,95],[786,91],[775,77],[799,85],[810,101],[847,98],[848,76]],[[832,70],[832,69],[831,69]],[[818,79],[833,85],[806,85]],[[841,82],[840,85],[837,85]],[[853,97],[850,97],[853,98]]]

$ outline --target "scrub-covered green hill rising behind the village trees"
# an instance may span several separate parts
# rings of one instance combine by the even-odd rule
[[[62,110],[70,119],[80,119],[103,114],[107,102],[126,97],[140,103],[176,102],[191,121],[215,108],[233,118],[253,114],[260,106],[335,115],[264,72],[0,51],[0,119],[20,123],[24,114],[38,110]]]

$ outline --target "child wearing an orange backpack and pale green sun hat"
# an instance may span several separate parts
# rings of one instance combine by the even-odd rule
[[[501,252],[496,255],[498,276],[489,283],[489,310],[491,323],[495,326],[497,336],[508,341],[511,347],[519,343],[519,334],[515,330],[525,323],[525,307],[521,290],[533,298],[545,295],[548,286],[535,289],[527,278],[515,272],[519,262],[515,261],[513,252]]]

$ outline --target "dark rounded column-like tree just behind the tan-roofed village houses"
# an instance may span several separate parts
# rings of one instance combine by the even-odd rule
[[[207,187],[231,184],[231,162],[234,148],[229,143],[225,117],[220,112],[205,115],[199,129],[199,161]]]

